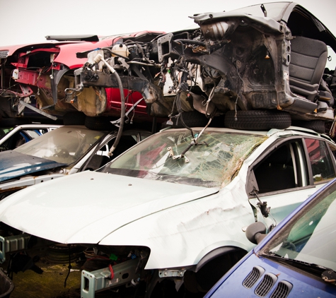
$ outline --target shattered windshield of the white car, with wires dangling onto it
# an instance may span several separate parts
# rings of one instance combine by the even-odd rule
[[[204,187],[225,186],[265,136],[209,130],[202,133],[197,145],[192,145],[193,139],[185,129],[156,133],[100,172]]]

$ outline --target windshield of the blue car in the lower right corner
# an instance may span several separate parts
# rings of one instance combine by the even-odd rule
[[[322,198],[321,198],[322,197]],[[336,185],[301,210],[262,254],[280,256],[336,270]]]

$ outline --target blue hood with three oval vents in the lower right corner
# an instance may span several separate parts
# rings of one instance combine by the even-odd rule
[[[303,270],[293,270],[251,251],[231,274],[212,288],[207,298],[222,297],[335,297],[335,285]]]

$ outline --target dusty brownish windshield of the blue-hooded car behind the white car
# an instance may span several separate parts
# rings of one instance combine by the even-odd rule
[[[70,165],[91,150],[105,136],[84,126],[62,126],[21,145],[14,151]]]

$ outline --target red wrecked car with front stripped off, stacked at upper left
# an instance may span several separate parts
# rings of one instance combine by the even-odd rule
[[[119,117],[118,88],[106,88],[103,94],[83,92],[76,100],[66,99],[64,90],[75,85],[74,70],[87,61],[85,55],[79,57],[76,54],[111,47],[129,38],[148,41],[162,33],[143,31],[110,37],[47,36],[47,42],[0,47],[1,116],[17,117],[20,101],[32,102],[30,99],[33,96],[37,108],[51,115],[62,116],[78,110],[91,117]],[[128,90],[124,90],[124,94],[127,108],[142,97],[141,93]],[[148,119],[145,102],[137,105],[134,117]]]

